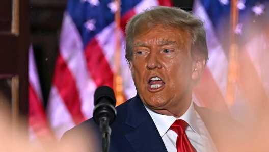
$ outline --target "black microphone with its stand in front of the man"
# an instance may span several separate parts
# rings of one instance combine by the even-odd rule
[[[102,149],[109,151],[112,124],[116,118],[116,99],[112,88],[101,86],[94,92],[93,120],[100,126],[102,133]]]

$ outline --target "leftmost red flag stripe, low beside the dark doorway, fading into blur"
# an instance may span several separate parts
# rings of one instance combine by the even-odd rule
[[[29,84],[29,125],[35,132],[35,135],[45,141],[54,141],[48,120],[45,114],[45,109],[42,102],[37,97],[34,89]]]

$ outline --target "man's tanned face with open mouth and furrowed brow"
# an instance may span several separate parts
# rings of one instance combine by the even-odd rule
[[[195,62],[186,31],[157,26],[133,39],[130,62],[142,102],[165,115],[181,116],[190,106]]]

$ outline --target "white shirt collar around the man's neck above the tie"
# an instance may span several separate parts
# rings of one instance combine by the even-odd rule
[[[148,108],[146,105],[144,106],[147,109],[148,113],[150,114],[152,120],[154,121],[160,136],[163,137],[170,128],[170,126],[177,120],[177,118],[174,116],[168,116],[156,113],[155,111]],[[187,111],[178,119],[186,121],[191,126],[192,130],[194,130],[196,134],[201,136],[199,132],[199,126],[193,102],[191,102],[189,109],[187,109]]]

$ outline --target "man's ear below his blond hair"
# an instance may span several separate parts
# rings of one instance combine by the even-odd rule
[[[205,59],[197,59],[193,62],[192,67],[192,80],[194,82],[194,86],[196,86],[202,76],[205,67]]]

